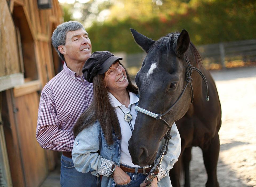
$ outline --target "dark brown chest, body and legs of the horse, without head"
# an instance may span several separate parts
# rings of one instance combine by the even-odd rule
[[[173,186],[180,186],[179,174],[185,172],[185,187],[190,186],[189,163],[191,160],[191,148],[198,146],[202,149],[205,168],[208,175],[206,186],[218,186],[217,182],[217,161],[219,156],[219,135],[221,127],[221,105],[216,86],[210,73],[204,68],[204,73],[209,87],[210,100],[205,102],[202,94],[205,90],[203,81],[198,82],[193,77],[194,101],[186,114],[176,121],[181,135],[181,155],[179,161],[169,172]],[[196,86],[198,85],[198,86]],[[202,93],[202,94],[200,94]],[[183,169],[181,167],[183,166]]]

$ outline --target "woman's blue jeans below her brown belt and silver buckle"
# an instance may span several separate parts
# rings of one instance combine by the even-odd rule
[[[134,167],[130,167],[127,165],[124,165],[124,166],[127,168],[134,168]],[[134,169],[135,169],[135,173],[126,172],[131,177],[131,182],[129,182],[128,184],[125,184],[125,185],[116,184],[115,186],[116,187],[126,187],[126,186],[138,187],[145,180],[145,178],[149,175],[149,174],[144,175],[143,173],[138,173],[139,168],[134,168]]]

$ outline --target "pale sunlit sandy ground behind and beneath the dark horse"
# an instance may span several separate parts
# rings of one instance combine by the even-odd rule
[[[221,187],[256,187],[256,67],[211,72],[222,106],[218,181]],[[211,97],[211,96],[209,96]],[[192,149],[191,187],[205,186],[201,149]],[[57,187],[59,172],[41,187]]]

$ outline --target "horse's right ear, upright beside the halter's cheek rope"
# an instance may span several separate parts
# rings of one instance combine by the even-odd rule
[[[190,39],[189,39],[189,33],[183,29],[181,31],[181,34],[179,34],[179,37],[174,42],[174,51],[178,57],[182,57],[183,54],[187,51],[189,48]]]

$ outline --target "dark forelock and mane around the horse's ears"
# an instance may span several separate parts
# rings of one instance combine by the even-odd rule
[[[153,51],[154,49],[156,49],[156,57],[158,59],[158,61],[160,60],[160,57],[163,53],[165,53],[167,51],[167,56],[169,56],[170,51],[173,51],[173,43],[174,41],[179,37],[179,32],[174,32],[174,33],[169,33],[166,36],[163,36],[162,38],[160,38],[159,40],[155,41],[155,43],[152,45],[152,47],[150,48],[150,51]],[[186,51],[185,53],[187,55],[187,57],[190,60],[190,63],[193,64],[193,59],[196,62],[197,67],[202,67],[203,63],[202,63],[202,59],[201,56],[197,50],[197,48],[195,47],[195,45],[190,42],[189,45],[189,49]]]

